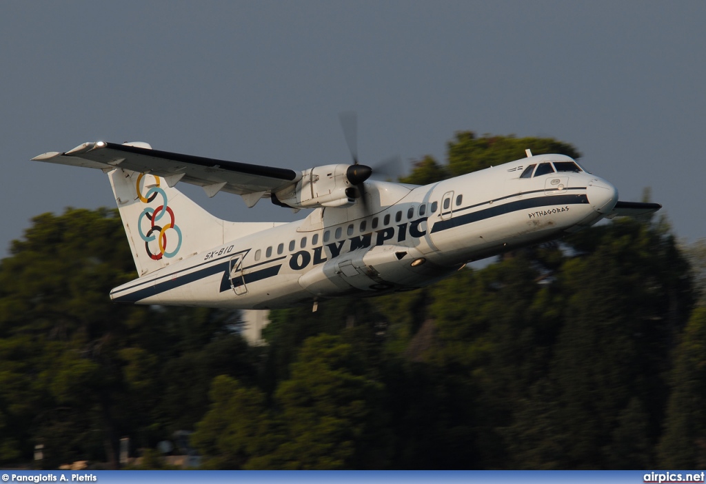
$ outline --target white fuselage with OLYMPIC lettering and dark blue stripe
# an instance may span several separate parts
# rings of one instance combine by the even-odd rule
[[[520,178],[548,162],[573,160],[539,155],[419,187],[368,181],[366,204],[317,208],[119,286],[111,297],[266,309],[425,286],[471,260],[590,226],[613,209],[617,190],[585,171]]]

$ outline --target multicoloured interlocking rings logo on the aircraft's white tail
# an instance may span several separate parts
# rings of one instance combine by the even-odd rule
[[[174,255],[177,255],[179,249],[181,248],[181,229],[179,229],[179,226],[174,221],[174,212],[171,208],[167,207],[167,193],[160,188],[159,176],[155,176],[157,184],[147,190],[145,195],[142,194],[142,190],[140,189],[140,181],[142,181],[142,177],[144,175],[145,174],[140,173],[137,177],[136,183],[137,196],[140,199],[140,202],[150,203],[152,200],[157,198],[157,195],[162,195],[162,205],[156,209],[147,207],[142,211],[142,213],[140,213],[140,217],[137,220],[138,233],[140,234],[140,238],[145,241],[145,250],[150,258],[154,260],[160,260],[162,257],[172,258]],[[164,214],[169,214],[169,223],[157,225],[157,222],[164,217]],[[144,234],[142,230],[142,222],[145,217],[147,217],[150,221],[150,229],[147,231],[147,234]],[[179,242],[177,242],[177,247],[172,251],[167,251],[167,230],[169,229],[173,229],[177,233],[177,238],[179,239]],[[157,247],[159,248],[158,253],[152,253],[152,250],[150,250],[150,242],[154,242],[155,239],[157,240]]]

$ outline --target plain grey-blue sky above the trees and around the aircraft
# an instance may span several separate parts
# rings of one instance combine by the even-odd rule
[[[4,1],[0,257],[37,214],[114,205],[100,171],[28,161],[42,152],[140,140],[305,169],[348,162],[349,109],[368,164],[444,159],[462,130],[573,143],[622,200],[652,187],[693,241],[705,25],[702,0]],[[222,218],[295,217],[179,187]]]

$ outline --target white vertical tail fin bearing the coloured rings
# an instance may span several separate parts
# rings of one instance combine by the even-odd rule
[[[124,169],[108,176],[140,277],[273,226],[217,219],[159,176]]]

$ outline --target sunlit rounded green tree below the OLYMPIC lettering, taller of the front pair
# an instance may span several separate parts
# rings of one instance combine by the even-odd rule
[[[290,469],[351,468],[383,390],[366,376],[363,362],[340,337],[322,334],[304,342],[292,376],[277,387],[286,440],[255,463]]]

